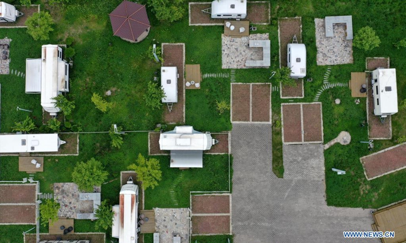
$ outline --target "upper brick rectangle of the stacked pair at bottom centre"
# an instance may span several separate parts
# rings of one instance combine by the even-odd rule
[[[192,214],[229,214],[229,195],[192,196]]]

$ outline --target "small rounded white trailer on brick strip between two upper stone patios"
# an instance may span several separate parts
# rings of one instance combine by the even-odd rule
[[[288,44],[288,67],[291,78],[306,76],[306,46],[304,44]]]

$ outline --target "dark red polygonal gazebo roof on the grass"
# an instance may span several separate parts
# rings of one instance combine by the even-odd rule
[[[114,35],[131,43],[147,37],[151,26],[145,5],[125,0],[109,15]]]

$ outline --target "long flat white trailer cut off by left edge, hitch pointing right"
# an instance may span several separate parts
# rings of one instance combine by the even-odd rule
[[[64,143],[58,134],[0,135],[0,153],[57,152]]]

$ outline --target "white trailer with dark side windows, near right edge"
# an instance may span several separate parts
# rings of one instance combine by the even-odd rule
[[[372,71],[374,114],[381,117],[397,113],[396,69],[381,68]]]

